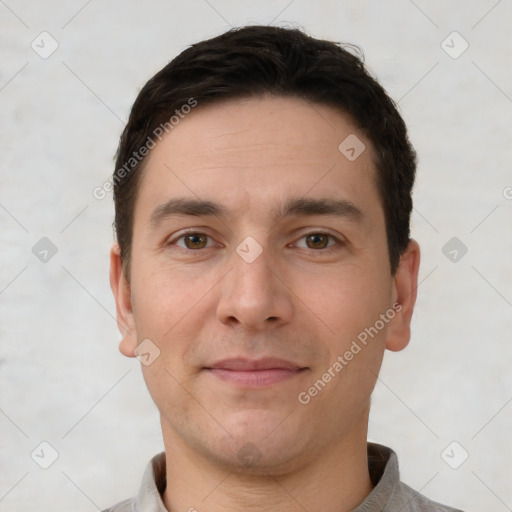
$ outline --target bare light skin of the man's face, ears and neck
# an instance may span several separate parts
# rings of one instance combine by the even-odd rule
[[[338,150],[350,134],[366,146],[353,162]],[[114,245],[111,286],[121,352],[134,357],[144,339],[160,350],[142,369],[160,411],[168,510],[339,512],[371,492],[370,396],[384,350],[409,341],[420,260],[411,241],[390,274],[375,172],[348,116],[282,97],[199,105],[150,153],[130,282]],[[158,205],[176,198],[226,212],[152,225]],[[343,199],[360,216],[280,216],[293,199]],[[189,228],[203,236],[183,238]],[[252,263],[236,252],[247,237],[262,249]],[[396,302],[401,311],[301,404],[299,393]],[[249,389],[204,369],[264,356],[305,370]]]

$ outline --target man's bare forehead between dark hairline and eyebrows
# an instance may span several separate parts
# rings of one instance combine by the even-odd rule
[[[199,103],[180,119],[147,157],[136,210],[183,196],[270,209],[315,194],[378,206],[371,145],[332,107],[271,96]]]

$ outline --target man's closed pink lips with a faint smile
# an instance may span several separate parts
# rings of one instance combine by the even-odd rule
[[[224,359],[205,367],[214,377],[247,388],[267,387],[302,374],[301,367],[284,359]]]

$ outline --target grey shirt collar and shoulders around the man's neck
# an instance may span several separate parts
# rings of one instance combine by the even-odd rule
[[[402,483],[396,453],[387,446],[368,443],[368,468],[374,488],[352,512],[462,512],[431,501]],[[166,484],[162,452],[148,463],[137,496],[103,512],[168,512],[161,496]]]

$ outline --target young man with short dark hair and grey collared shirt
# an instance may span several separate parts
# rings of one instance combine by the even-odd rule
[[[350,51],[245,27],[141,90],[113,175],[121,352],[165,452],[116,511],[449,511],[367,443],[410,338],[415,153]]]

